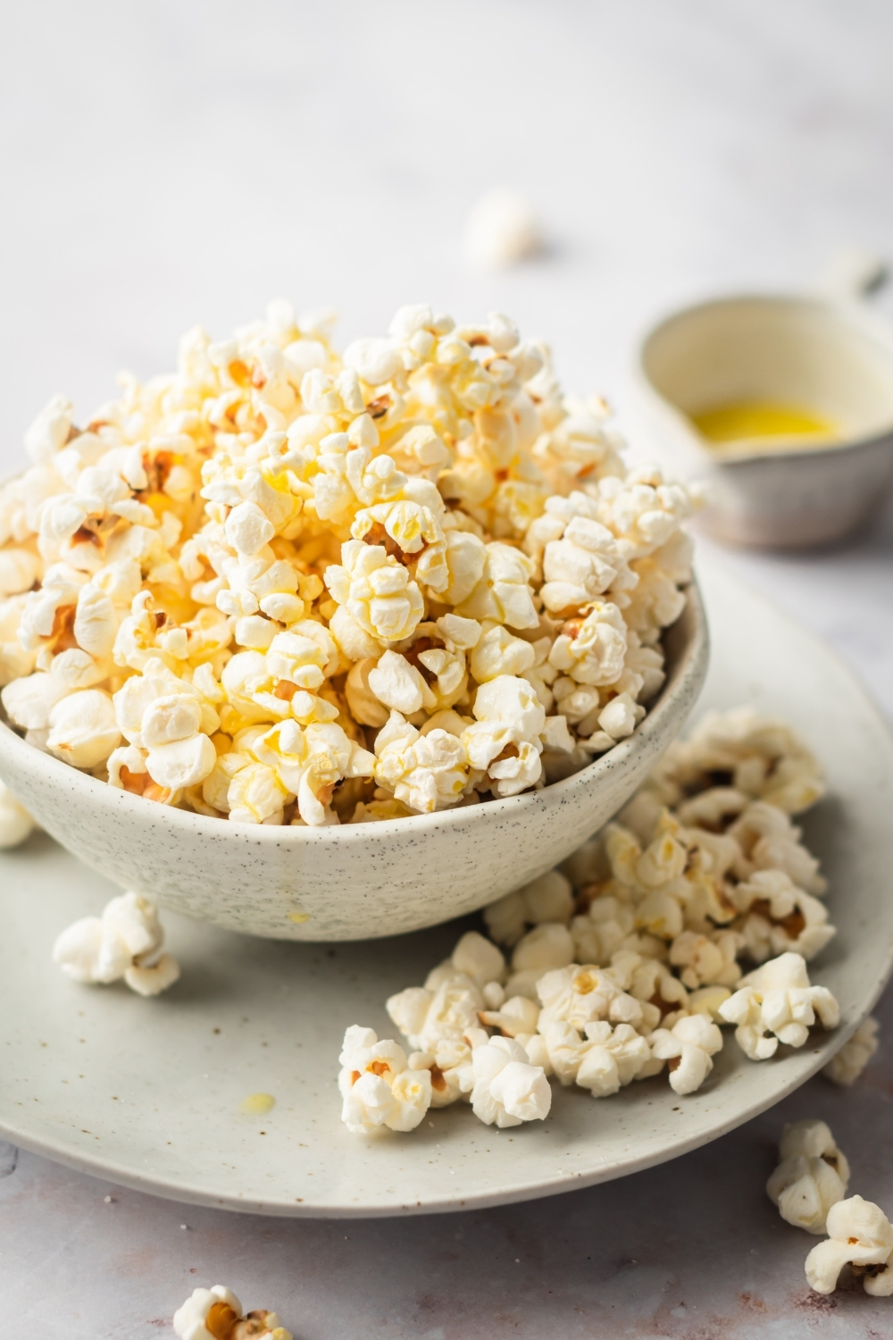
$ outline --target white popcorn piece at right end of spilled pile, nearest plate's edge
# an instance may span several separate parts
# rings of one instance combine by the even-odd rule
[[[774,1056],[779,1043],[802,1047],[818,1014],[822,1028],[837,1028],[839,1006],[826,986],[810,986],[801,954],[781,954],[742,977],[740,988],[719,1013],[735,1024],[735,1041],[751,1061]],[[774,1036],[767,1036],[774,1034]]]

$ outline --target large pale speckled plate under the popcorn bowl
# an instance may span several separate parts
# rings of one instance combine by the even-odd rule
[[[702,574],[712,667],[702,708],[752,702],[787,717],[825,765],[809,816],[839,927],[814,977],[842,1024],[752,1064],[727,1036],[704,1088],[665,1079],[593,1100],[556,1088],[545,1123],[497,1131],[465,1104],[411,1135],[349,1135],[339,1120],[347,1024],[394,1029],[386,997],[423,980],[462,923],[368,945],[278,943],[166,914],[181,982],[145,1001],[84,988],[50,961],[54,937],[115,890],[46,836],[0,862],[0,1131],[127,1186],[282,1215],[382,1215],[522,1201],[660,1163],[777,1103],[870,1009],[893,955],[893,742],[849,673],[811,635],[727,575]],[[419,868],[424,879],[424,868]],[[270,1093],[265,1115],[244,1100]]]

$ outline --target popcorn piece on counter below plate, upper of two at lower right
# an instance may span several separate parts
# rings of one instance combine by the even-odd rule
[[[825,1122],[786,1126],[779,1164],[766,1183],[778,1213],[797,1229],[825,1233],[827,1211],[846,1195],[850,1166]]]

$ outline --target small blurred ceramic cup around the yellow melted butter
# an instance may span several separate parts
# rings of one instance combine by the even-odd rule
[[[707,484],[699,525],[731,544],[797,548],[850,533],[893,477],[893,335],[854,302],[724,297],[684,308],[641,342],[643,436],[668,469]],[[689,415],[715,405],[802,405],[841,442],[711,449]]]

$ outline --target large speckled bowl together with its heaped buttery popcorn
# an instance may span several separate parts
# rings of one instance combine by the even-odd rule
[[[434,925],[562,860],[707,663],[687,490],[494,315],[343,354],[270,304],[0,492],[0,775],[87,864],[253,934]]]

